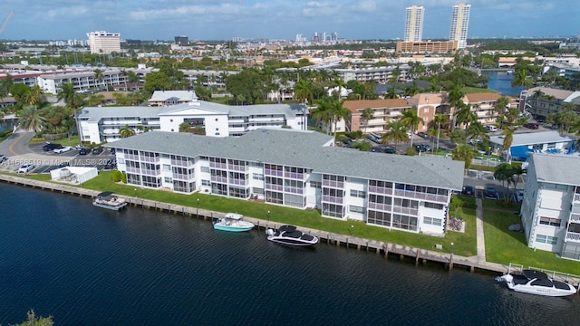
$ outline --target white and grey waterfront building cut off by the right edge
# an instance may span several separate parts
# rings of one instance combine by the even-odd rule
[[[521,206],[527,246],[580,260],[580,157],[532,154]]]

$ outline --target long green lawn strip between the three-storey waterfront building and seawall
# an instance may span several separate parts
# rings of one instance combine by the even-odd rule
[[[45,174],[21,177],[50,181],[50,175]],[[237,212],[245,216],[252,216],[265,220],[269,217],[271,221],[278,223],[303,225],[333,234],[351,235],[352,233],[355,236],[367,239],[398,245],[410,245],[421,249],[436,250],[435,245],[443,245],[443,249],[440,251],[444,253],[449,253],[451,250],[451,243],[454,243],[455,254],[465,256],[477,254],[475,210],[473,209],[459,207],[455,212],[451,213],[454,216],[460,216],[464,221],[466,221],[465,233],[449,231],[445,237],[438,237],[431,235],[417,235],[397,230],[390,231],[389,229],[366,225],[358,221],[335,220],[320,216],[320,213],[316,210],[306,211],[303,209],[268,205],[202,193],[183,195],[171,191],[153,190],[116,184],[111,181],[111,171],[99,172],[98,177],[85,182],[82,184],[82,187],[98,191],[112,191],[124,196],[134,197],[137,195],[137,197],[140,198],[190,207],[197,207],[199,199],[200,209],[208,209],[223,213]],[[268,211],[270,214],[268,214]]]

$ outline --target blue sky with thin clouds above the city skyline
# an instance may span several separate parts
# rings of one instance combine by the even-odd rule
[[[577,0],[472,0],[469,38],[580,35]],[[454,0],[1,0],[0,39],[86,39],[91,31],[121,39],[295,39],[337,32],[347,39],[402,38],[405,7],[423,5],[423,39],[447,38]]]

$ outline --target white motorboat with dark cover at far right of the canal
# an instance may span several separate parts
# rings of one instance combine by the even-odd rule
[[[574,286],[554,281],[546,273],[534,270],[523,270],[520,274],[507,273],[496,277],[496,281],[505,282],[510,290],[545,296],[566,296],[575,294]]]

